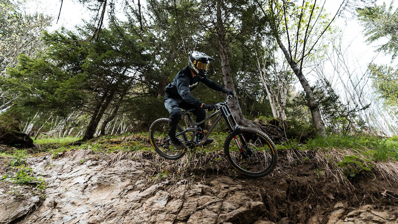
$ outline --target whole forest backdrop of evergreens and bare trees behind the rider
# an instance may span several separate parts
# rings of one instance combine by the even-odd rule
[[[0,1],[2,138],[147,132],[168,116],[164,86],[193,50],[216,59],[209,78],[236,93],[230,106],[244,126],[275,126],[288,144],[397,135],[394,2],[343,0],[330,13],[320,1],[79,0],[88,19],[53,31],[57,16],[27,2]],[[357,20],[377,44],[365,67],[337,18]],[[378,55],[386,64],[373,63]],[[225,97],[204,85],[193,95]]]

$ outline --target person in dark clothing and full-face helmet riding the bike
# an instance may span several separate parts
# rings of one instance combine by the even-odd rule
[[[170,136],[170,144],[174,145],[177,149],[186,147],[184,143],[176,138],[176,129],[182,116],[181,108],[184,110],[195,109],[193,114],[196,116],[196,122],[201,122],[206,118],[206,110],[212,111],[215,109],[214,104],[204,104],[192,96],[191,91],[199,82],[204,83],[213,90],[234,95],[231,90],[222,88],[219,84],[214,83],[206,77],[210,61],[214,61],[214,59],[205,53],[193,51],[189,55],[188,66],[181,69],[173,82],[164,88],[164,106],[170,113],[168,135]],[[203,130],[205,124],[203,123],[199,127]],[[201,130],[197,138],[198,142],[203,140],[203,132]],[[203,145],[210,144],[213,141],[213,138],[208,138]]]

